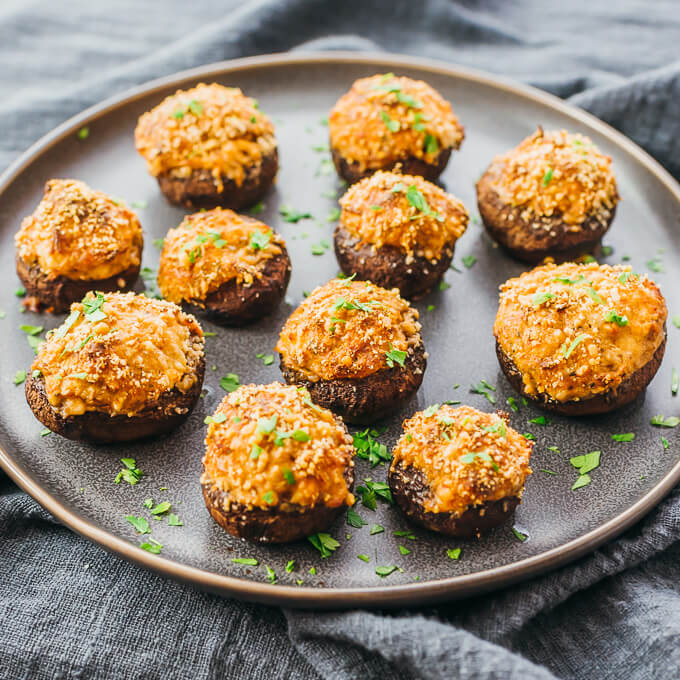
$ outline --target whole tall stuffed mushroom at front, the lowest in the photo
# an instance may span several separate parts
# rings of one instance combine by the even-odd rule
[[[352,437],[304,388],[241,386],[206,422],[203,498],[230,534],[287,543],[354,503]]]

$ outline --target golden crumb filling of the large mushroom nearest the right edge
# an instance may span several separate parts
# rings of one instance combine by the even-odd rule
[[[587,399],[617,388],[665,337],[666,303],[626,266],[548,264],[501,286],[494,335],[527,394]]]

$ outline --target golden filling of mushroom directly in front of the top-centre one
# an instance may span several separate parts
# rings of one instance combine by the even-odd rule
[[[340,199],[340,225],[376,248],[394,246],[433,260],[467,228],[465,206],[437,185],[414,175],[378,171]]]

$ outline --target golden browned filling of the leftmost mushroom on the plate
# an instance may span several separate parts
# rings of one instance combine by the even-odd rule
[[[139,265],[137,215],[74,179],[52,179],[15,236],[19,257],[49,278],[108,279]]]

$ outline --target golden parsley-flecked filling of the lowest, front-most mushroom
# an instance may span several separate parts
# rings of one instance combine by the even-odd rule
[[[217,407],[201,483],[248,507],[352,505],[345,471],[354,446],[342,422],[304,388],[244,385]]]

